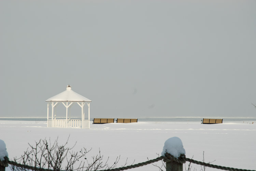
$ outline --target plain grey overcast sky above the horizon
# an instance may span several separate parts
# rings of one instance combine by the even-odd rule
[[[256,1],[1,0],[0,25],[0,116],[68,84],[92,118],[256,116]]]

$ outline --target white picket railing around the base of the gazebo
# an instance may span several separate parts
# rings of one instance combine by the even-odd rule
[[[47,127],[57,127],[57,128],[66,128],[66,119],[54,119],[47,120]],[[82,125],[82,121],[79,119],[69,119],[67,121],[68,128],[90,128],[90,121],[84,120]]]

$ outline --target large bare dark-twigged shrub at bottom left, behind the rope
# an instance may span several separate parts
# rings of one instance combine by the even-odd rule
[[[58,138],[52,144],[50,139],[49,141],[40,139],[38,142],[35,142],[35,145],[29,144],[24,154],[19,158],[15,157],[14,161],[30,166],[30,170],[39,168],[54,171],[95,171],[114,168],[120,159],[120,156],[116,157],[113,164],[109,165],[109,157],[104,161],[103,155],[101,155],[99,150],[96,156],[90,158],[90,162],[87,160],[86,155],[91,149],[87,150],[83,148],[79,152],[74,152],[72,149],[76,143],[70,148],[67,147],[68,140],[64,145],[59,145],[57,141]],[[29,171],[29,169],[13,165],[11,169],[12,171]]]

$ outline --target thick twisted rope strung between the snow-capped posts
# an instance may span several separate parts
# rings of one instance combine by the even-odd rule
[[[221,169],[221,170],[228,170],[228,171],[256,171],[256,170],[237,169],[237,168],[230,168],[230,167],[212,165],[210,163],[205,163],[205,162],[193,160],[193,159],[190,159],[190,158],[186,158],[185,155],[181,155],[179,158],[176,158],[176,157],[172,156],[169,153],[166,153],[165,156],[157,157],[155,159],[148,160],[148,161],[145,161],[145,162],[141,162],[141,163],[138,163],[138,164],[134,164],[134,165],[126,166],[126,167],[107,169],[107,170],[98,170],[98,171],[127,170],[127,169],[132,169],[132,168],[137,168],[137,167],[149,165],[149,164],[152,164],[152,163],[160,161],[160,160],[163,160],[165,162],[176,162],[176,163],[181,164],[181,165],[183,163],[185,163],[186,161],[188,161],[188,162],[191,162],[191,163],[194,163],[194,164],[197,164],[197,165],[206,166],[206,167],[210,167],[210,168]],[[17,166],[17,167],[20,167],[20,168],[24,168],[24,169],[34,170],[34,171],[55,171],[55,170],[51,170],[51,169],[43,169],[43,168],[37,168],[37,167],[28,166],[28,165],[18,164],[17,162],[10,161],[8,157],[4,157],[4,161],[0,160],[0,166],[8,167],[8,164],[13,165],[13,166]]]

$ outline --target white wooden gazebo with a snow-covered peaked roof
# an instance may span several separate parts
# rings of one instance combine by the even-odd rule
[[[47,102],[47,127],[80,127],[80,128],[90,128],[90,103],[91,100],[77,94],[71,90],[71,86],[68,85],[67,89],[51,98],[45,100]],[[56,107],[62,103],[66,107],[66,119],[56,119],[54,118],[54,111]],[[82,119],[68,119],[68,108],[74,104],[78,104],[82,109]],[[52,119],[49,119],[49,105],[52,106]],[[85,120],[84,116],[84,106],[88,106],[88,120]]]

